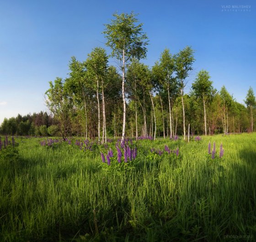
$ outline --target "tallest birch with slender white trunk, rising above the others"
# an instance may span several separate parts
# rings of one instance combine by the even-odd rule
[[[122,71],[122,96],[123,96],[123,130],[122,141],[125,137],[126,101],[125,101],[125,72],[128,63],[133,57],[141,59],[146,57],[146,45],[148,37],[142,30],[143,24],[138,23],[136,15],[122,13],[113,14],[114,19],[110,24],[105,24],[106,45],[112,49],[112,57],[115,57]]]

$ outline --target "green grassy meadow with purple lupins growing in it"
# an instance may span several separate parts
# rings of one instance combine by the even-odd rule
[[[16,138],[0,151],[0,241],[255,241],[256,134],[201,138],[133,141],[120,164],[115,141]]]

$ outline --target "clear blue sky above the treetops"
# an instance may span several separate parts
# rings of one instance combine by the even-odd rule
[[[164,48],[176,53],[192,46],[196,62],[187,92],[206,69],[213,86],[225,85],[238,102],[250,86],[256,94],[256,1],[1,0],[0,123],[47,111],[48,82],[67,77],[71,56],[83,61],[92,48],[104,47],[103,24],[114,12],[132,10],[149,37],[144,62],[150,67]]]

